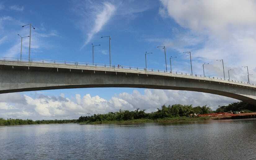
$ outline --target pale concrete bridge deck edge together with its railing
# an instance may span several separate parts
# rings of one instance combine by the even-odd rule
[[[60,63],[61,62],[61,63]],[[38,61],[23,61],[19,59],[7,59],[0,60],[0,66],[11,66],[12,69],[18,69],[17,67],[24,67],[26,69],[33,69],[37,68],[38,70],[49,70],[49,69],[56,69],[56,72],[61,71],[61,69],[69,69],[70,71],[80,70],[81,72],[86,71],[104,71],[104,72],[113,72],[115,74],[118,73],[126,73],[126,74],[145,74],[155,75],[155,76],[168,76],[173,78],[187,78],[187,79],[194,79],[198,81],[208,81],[208,82],[218,82],[220,84],[227,84],[227,85],[236,85],[242,86],[249,89],[255,89],[256,86],[254,84],[248,84],[241,81],[233,81],[233,80],[224,80],[222,78],[215,78],[215,77],[204,77],[201,75],[191,75],[187,73],[178,73],[178,72],[166,72],[164,70],[158,69],[145,69],[145,68],[138,68],[138,67],[129,67],[129,66],[120,66],[119,68],[115,65],[106,65],[106,64],[90,64],[90,63],[78,63],[78,62],[65,62],[65,61],[49,61],[49,60],[38,60]],[[40,68],[40,69],[39,69]]]

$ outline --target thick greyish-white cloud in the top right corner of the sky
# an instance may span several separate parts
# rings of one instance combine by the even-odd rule
[[[233,26],[245,27],[256,22],[256,4],[252,0],[162,0],[161,2],[178,24],[192,30],[206,29],[221,35]]]

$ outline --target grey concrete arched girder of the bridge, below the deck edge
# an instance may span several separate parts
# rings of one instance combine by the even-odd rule
[[[93,87],[198,91],[256,104],[255,88],[228,83],[121,71],[0,66],[0,93]]]

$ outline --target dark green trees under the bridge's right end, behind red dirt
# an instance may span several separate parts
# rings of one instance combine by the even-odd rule
[[[256,105],[245,102],[236,102],[228,104],[227,106],[219,106],[219,108],[216,109],[216,113],[229,111],[244,111],[245,113],[251,113],[256,111]]]

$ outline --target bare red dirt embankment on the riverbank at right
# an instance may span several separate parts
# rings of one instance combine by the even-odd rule
[[[237,118],[256,118],[256,113],[239,113],[239,114],[231,114],[231,113],[211,113],[211,114],[199,114],[199,117],[213,117],[218,119],[237,119]]]

